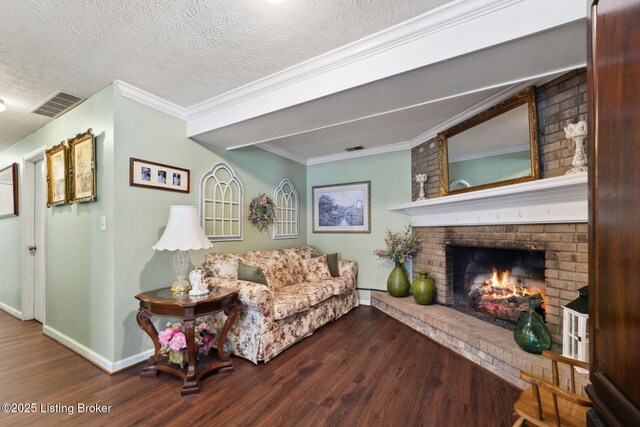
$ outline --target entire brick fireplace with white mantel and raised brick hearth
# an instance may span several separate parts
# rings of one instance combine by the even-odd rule
[[[586,119],[586,72],[569,72],[536,88],[541,178],[538,181],[439,197],[438,144],[435,138],[412,149],[412,176],[427,173],[428,200],[391,207],[410,217],[422,238],[413,276],[427,271],[437,287],[437,304],[419,306],[411,297],[373,292],[371,304],[429,338],[513,384],[525,387],[521,371],[551,379],[548,361],[521,350],[512,332],[454,310],[457,281],[453,248],[494,248],[536,253],[541,272],[521,277],[544,284],[545,318],[554,350],[562,344],[562,305],[587,284],[587,177],[565,176],[573,147],[563,128]],[[539,277],[542,274],[542,277]],[[561,381],[567,372],[561,372]],[[587,381],[579,378],[579,383]]]

